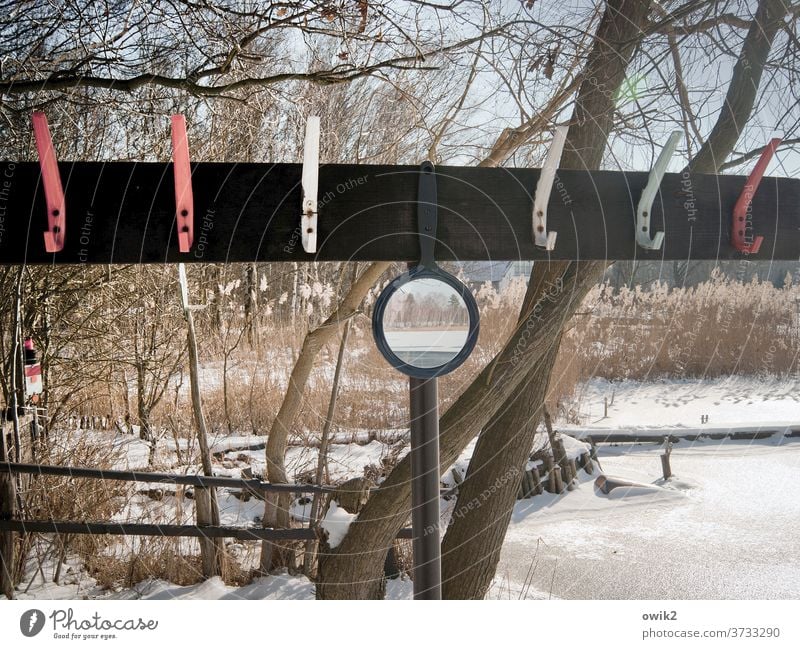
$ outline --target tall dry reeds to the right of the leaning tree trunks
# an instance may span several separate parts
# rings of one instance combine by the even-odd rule
[[[650,380],[800,371],[800,286],[741,284],[720,274],[696,288],[596,287],[559,352],[553,404],[593,378]]]

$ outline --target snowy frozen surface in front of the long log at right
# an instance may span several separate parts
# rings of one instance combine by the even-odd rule
[[[800,440],[599,447],[602,468],[646,485],[518,501],[498,577],[579,599],[800,597]]]

